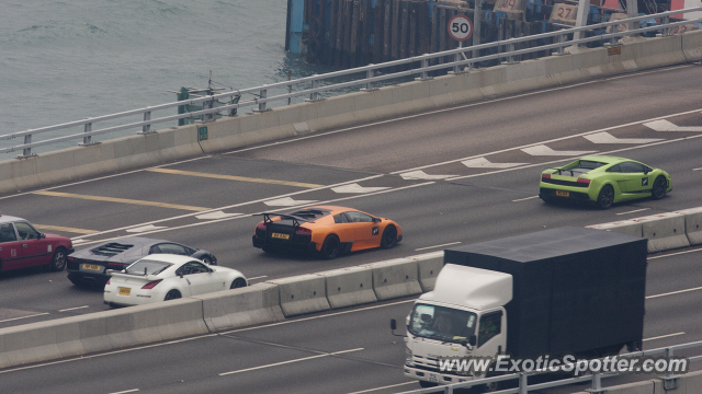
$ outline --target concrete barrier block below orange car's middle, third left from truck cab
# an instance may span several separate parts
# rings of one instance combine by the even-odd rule
[[[327,300],[331,309],[376,302],[373,271],[366,267],[350,267],[319,273],[326,279]]]

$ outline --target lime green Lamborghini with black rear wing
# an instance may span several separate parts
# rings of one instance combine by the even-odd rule
[[[670,190],[670,175],[663,170],[630,159],[590,155],[542,172],[539,197],[546,202],[571,199],[607,209],[636,198],[661,199]]]

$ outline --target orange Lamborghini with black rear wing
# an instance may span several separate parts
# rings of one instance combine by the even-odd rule
[[[253,246],[316,252],[324,258],[371,247],[390,248],[403,240],[394,221],[353,208],[318,206],[291,213],[264,212],[253,233]]]

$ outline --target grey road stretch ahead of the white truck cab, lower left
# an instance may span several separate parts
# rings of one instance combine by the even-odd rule
[[[193,387],[207,387],[208,393],[230,393],[233,387],[237,387],[237,392],[256,393],[261,392],[258,387],[267,385],[267,381],[274,380],[265,392],[348,393],[358,391],[355,389],[372,389],[386,381],[395,384],[406,381],[401,363],[398,363],[404,360],[405,347],[401,339],[398,341],[389,334],[387,318],[390,315],[404,316],[408,305],[409,302],[394,302],[383,308],[361,306],[355,309],[356,312],[342,315],[331,314],[315,320],[306,316],[284,324],[254,327],[247,334],[233,333],[236,338],[227,334],[205,336],[104,356],[93,355],[64,363],[0,371],[0,392],[22,387],[32,393],[114,393],[134,389],[154,393],[165,390],[192,393],[202,391],[193,391]],[[356,316],[350,318],[349,314]],[[251,334],[258,329],[265,333],[260,336]],[[290,338],[291,332],[295,333],[293,337],[309,337],[304,343],[310,346],[281,339],[283,336]],[[339,336],[328,337],[328,332],[337,332]],[[370,348],[363,347],[324,356],[358,349],[350,346],[358,343],[377,348],[369,351]],[[324,357],[305,359],[315,356]],[[276,364],[286,361],[292,362]],[[219,375],[257,367],[262,368]],[[358,379],[358,371],[362,372],[363,380]],[[57,387],[63,390],[57,391]]]

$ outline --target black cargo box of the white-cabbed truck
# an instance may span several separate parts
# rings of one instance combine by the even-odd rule
[[[513,298],[505,306],[512,356],[605,352],[641,346],[646,243],[567,227],[450,248],[444,264],[512,275]]]

